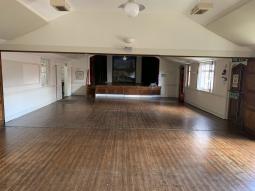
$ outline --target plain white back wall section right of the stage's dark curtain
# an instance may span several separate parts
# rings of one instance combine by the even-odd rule
[[[159,86],[161,86],[161,97],[178,97],[179,67],[179,63],[160,58]]]

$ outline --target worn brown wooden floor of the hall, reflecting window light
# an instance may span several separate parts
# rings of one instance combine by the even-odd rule
[[[7,125],[1,191],[255,190],[255,142],[173,101],[70,99]]]

